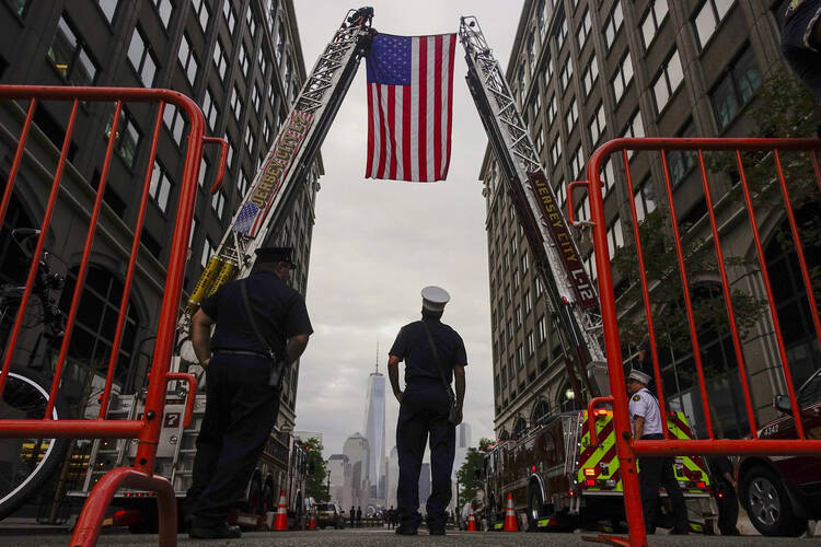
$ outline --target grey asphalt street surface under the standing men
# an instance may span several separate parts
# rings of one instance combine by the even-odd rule
[[[25,535],[11,534],[9,531],[0,534],[0,545],[14,547],[50,547],[67,546],[68,534],[35,535],[31,531]],[[371,545],[471,545],[471,546],[500,546],[500,545],[560,545],[590,546],[597,545],[586,540],[586,537],[594,537],[595,533],[576,534],[525,534],[525,533],[465,533],[448,531],[444,537],[431,537],[426,533],[418,536],[396,536],[393,531],[385,528],[344,529],[344,531],[315,531],[315,532],[254,532],[246,533],[240,539],[215,539],[195,540],[187,535],[180,535],[181,547],[194,546],[351,546],[365,547]],[[818,545],[818,537],[805,538],[772,538],[761,536],[650,536],[650,546],[771,546],[778,547]],[[107,533],[100,537],[100,546],[157,546],[157,535],[129,535],[124,533]]]

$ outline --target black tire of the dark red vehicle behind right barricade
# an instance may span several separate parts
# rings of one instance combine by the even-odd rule
[[[750,469],[741,485],[741,503],[764,536],[799,536],[807,520],[796,516],[782,480],[766,467]]]

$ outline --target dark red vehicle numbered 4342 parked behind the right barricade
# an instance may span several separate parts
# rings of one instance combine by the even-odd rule
[[[798,389],[807,439],[821,439],[821,370]],[[783,416],[764,424],[761,439],[797,439],[789,397],[776,395]],[[738,468],[739,499],[755,529],[765,536],[798,536],[808,520],[821,519],[821,456],[745,456]]]

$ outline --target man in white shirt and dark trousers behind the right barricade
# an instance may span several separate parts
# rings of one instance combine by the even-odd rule
[[[627,393],[631,395],[629,417],[634,439],[663,439],[661,429],[661,409],[656,396],[647,385],[650,375],[633,369],[627,376]],[[656,533],[656,514],[658,511],[659,486],[663,486],[673,505],[674,525],[671,534],[687,534],[687,510],[684,494],[673,473],[673,462],[669,457],[641,456],[638,464],[638,484],[641,491],[641,507],[645,515],[645,529]]]

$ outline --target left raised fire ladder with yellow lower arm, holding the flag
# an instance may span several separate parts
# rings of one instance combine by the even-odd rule
[[[367,55],[373,36],[372,18],[371,8],[348,11],[305,80],[180,317],[177,340],[183,361],[196,362],[188,330],[199,304],[228,281],[251,272],[255,251],[266,244],[278,219],[291,210],[296,190],[307,179],[359,62]],[[174,368],[178,369],[182,363],[176,361]]]

